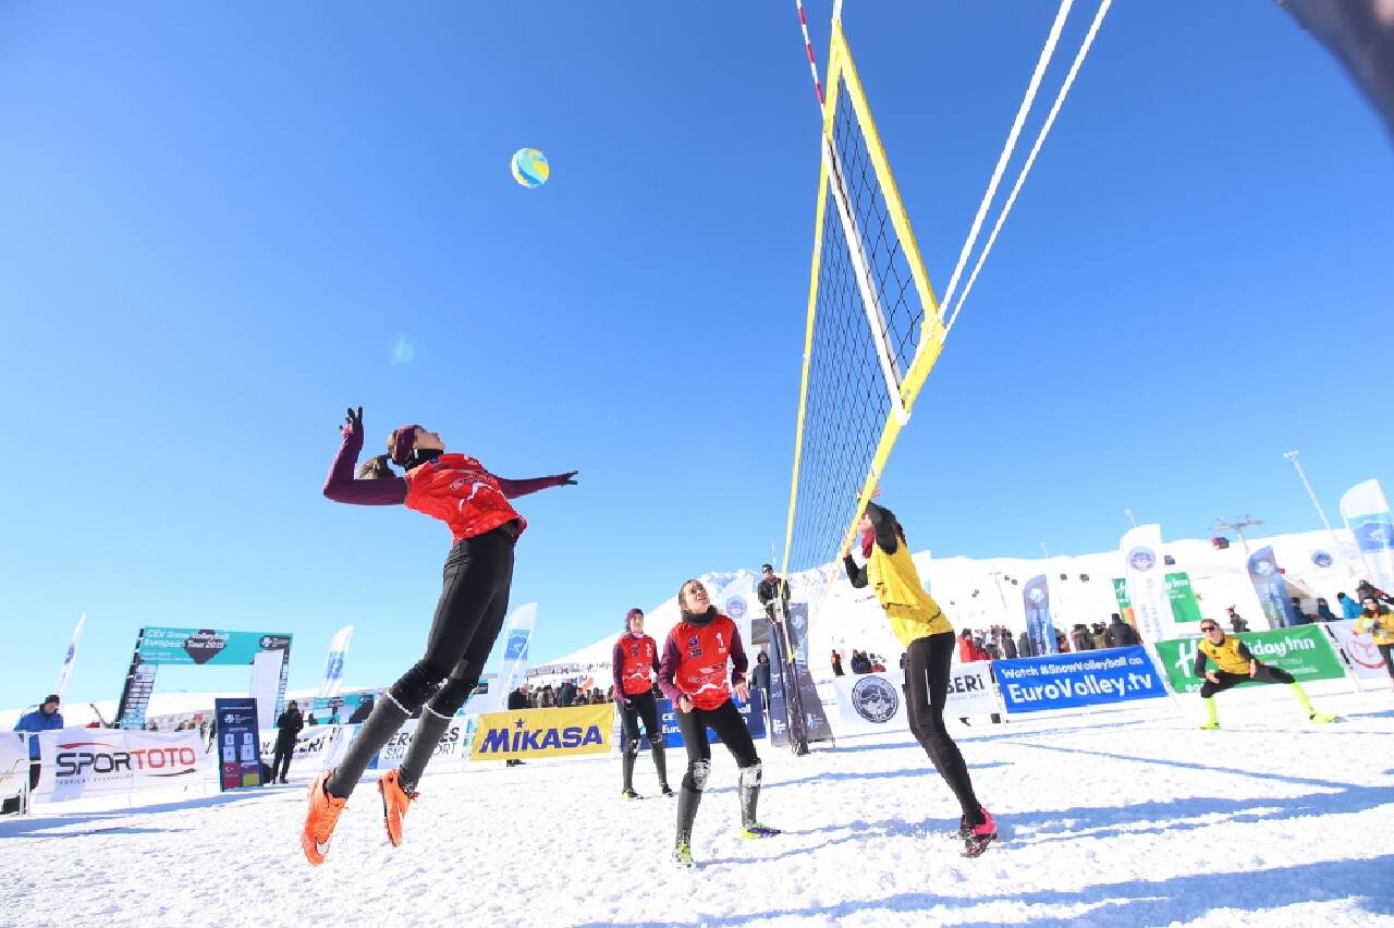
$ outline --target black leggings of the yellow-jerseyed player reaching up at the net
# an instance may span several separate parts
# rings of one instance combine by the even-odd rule
[[[944,727],[944,704],[949,698],[949,666],[953,662],[953,633],[941,631],[916,638],[905,655],[905,699],[910,716],[910,732],[930,755],[934,769],[953,790],[963,815],[972,823],[981,822],[973,780],[958,744]]]

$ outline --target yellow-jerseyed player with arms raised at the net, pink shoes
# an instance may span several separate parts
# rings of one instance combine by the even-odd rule
[[[962,807],[958,835],[965,843],[963,856],[977,857],[997,837],[997,822],[979,804],[963,754],[944,727],[949,665],[953,660],[953,626],[934,598],[924,592],[924,584],[910,559],[905,529],[895,514],[875,503],[867,503],[859,528],[866,566],[860,566],[849,550],[843,557],[848,578],[853,587],[870,584],[875,589],[891,631],[905,647],[905,698],[910,732]]]

